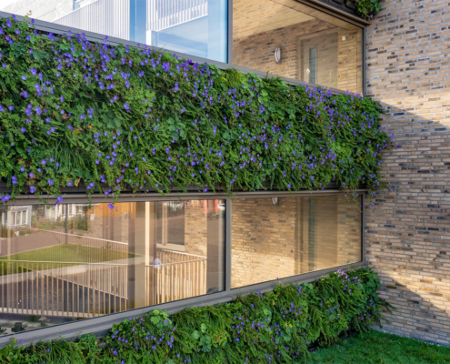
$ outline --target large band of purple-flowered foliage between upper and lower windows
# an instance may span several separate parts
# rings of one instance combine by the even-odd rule
[[[61,202],[80,183],[112,201],[186,186],[380,184],[390,140],[368,97],[40,35],[14,18],[0,19],[0,56],[0,174],[12,191],[3,202],[25,192]]]

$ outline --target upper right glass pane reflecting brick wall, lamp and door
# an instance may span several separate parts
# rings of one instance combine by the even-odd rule
[[[362,47],[361,28],[295,0],[233,3],[236,66],[360,93]]]

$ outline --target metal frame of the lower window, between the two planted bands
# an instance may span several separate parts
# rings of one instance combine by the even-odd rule
[[[367,189],[358,189],[356,192],[361,196],[361,261],[354,264],[345,264],[342,266],[336,266],[332,268],[326,268],[321,270],[315,270],[308,273],[302,273],[287,278],[280,278],[270,281],[257,283],[254,285],[245,286],[242,288],[231,288],[231,274],[232,274],[232,240],[231,240],[231,225],[232,225],[232,200],[241,198],[271,198],[271,197],[314,197],[314,196],[326,196],[326,195],[338,195],[342,194],[342,191],[336,189],[321,190],[321,191],[256,191],[256,192],[237,192],[233,196],[229,196],[225,193],[187,193],[187,194],[170,194],[169,196],[163,196],[160,194],[146,194],[146,195],[128,195],[121,197],[119,202],[146,202],[146,201],[170,201],[170,200],[189,200],[189,199],[225,199],[225,290],[216,292],[209,295],[197,296],[193,298],[185,298],[168,302],[155,306],[148,306],[145,308],[134,308],[123,312],[117,312],[114,314],[108,314],[98,318],[82,319],[75,322],[66,322],[63,324],[55,325],[48,328],[34,329],[30,331],[23,331],[13,335],[7,335],[0,337],[0,344],[5,345],[11,342],[11,339],[17,340],[17,345],[29,345],[39,340],[49,339],[74,339],[79,335],[85,335],[93,333],[97,336],[105,336],[111,329],[113,324],[125,319],[135,318],[144,315],[145,313],[154,309],[165,309],[169,313],[174,313],[185,307],[203,307],[207,305],[215,305],[218,303],[230,302],[238,296],[253,293],[255,291],[264,291],[273,289],[278,282],[282,283],[305,283],[312,282],[317,278],[321,278],[324,275],[334,272],[336,269],[350,269],[359,268],[366,265],[365,262],[365,193]],[[101,195],[93,195],[93,203],[105,203],[107,202],[105,197]],[[14,206],[21,205],[39,205],[42,202],[37,197],[17,197]],[[50,202],[50,201],[48,201]],[[53,201],[52,201],[53,202]],[[80,195],[69,195],[65,197],[65,203],[86,203],[88,202],[87,196],[80,197]]]

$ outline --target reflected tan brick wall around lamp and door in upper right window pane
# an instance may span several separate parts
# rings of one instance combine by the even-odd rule
[[[330,32],[332,30],[335,32]],[[308,78],[305,75],[307,65],[303,64],[301,59],[301,39],[315,36],[324,38],[320,45],[325,49],[328,45],[324,45],[324,42],[330,45],[337,42],[337,69],[328,75],[328,70],[320,70],[318,67],[317,83],[351,92],[361,92],[362,32],[345,30],[319,19],[234,39],[233,63],[237,66],[307,81]],[[343,36],[346,38],[345,41]],[[275,62],[273,51],[276,47],[280,47],[282,51],[280,63]]]

